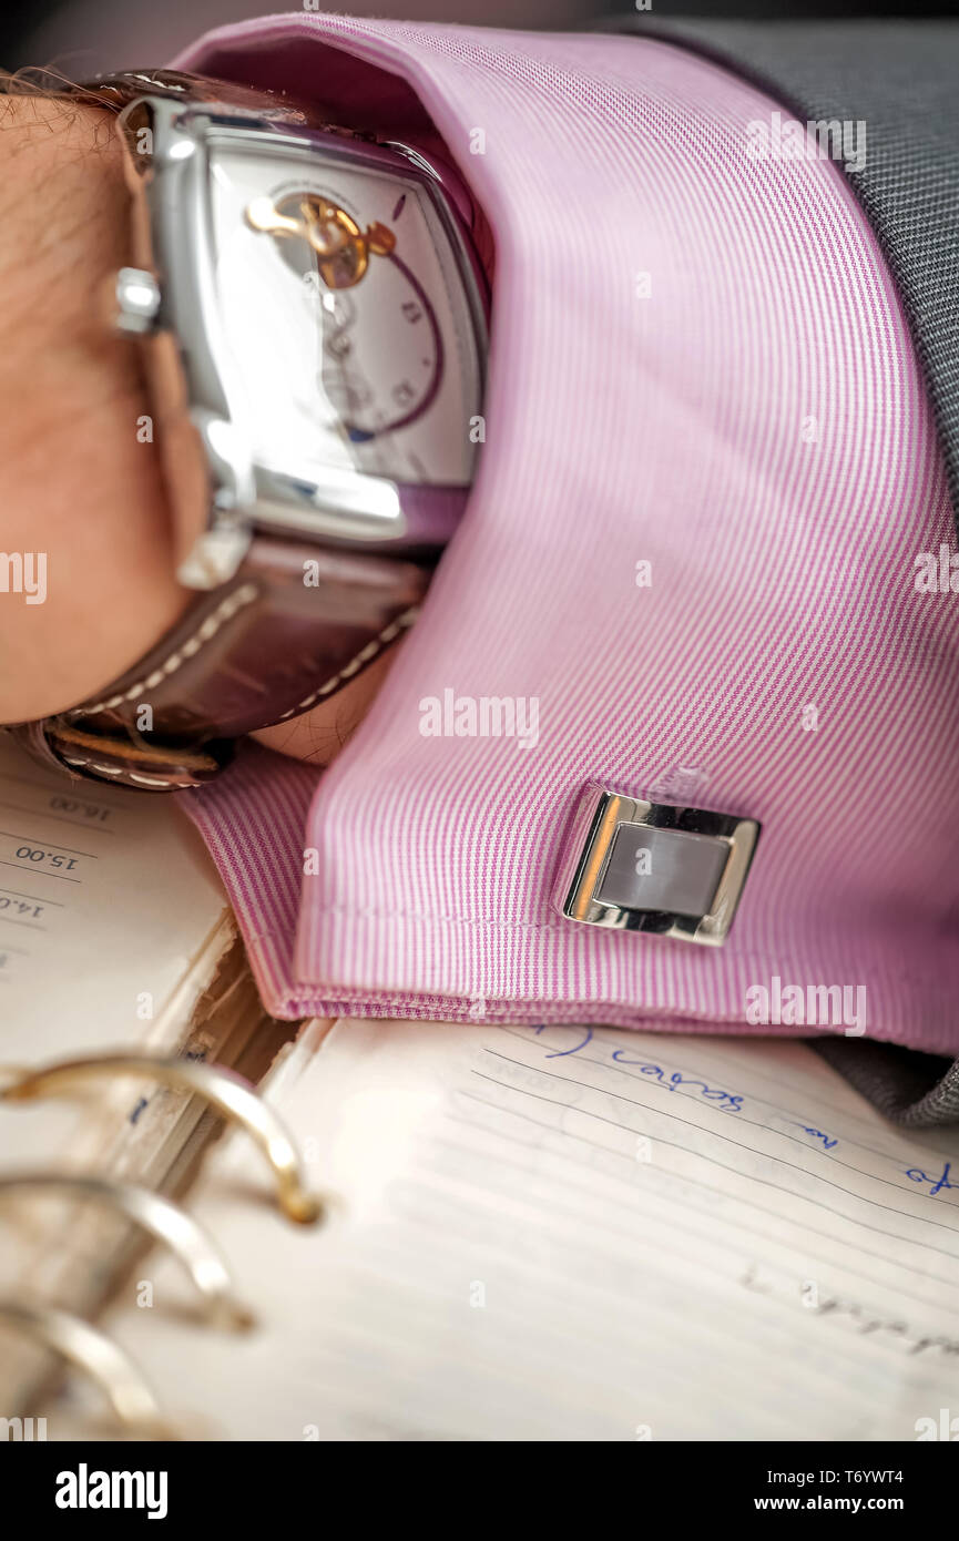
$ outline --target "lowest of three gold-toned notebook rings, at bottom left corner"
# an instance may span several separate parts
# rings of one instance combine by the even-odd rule
[[[0,1321],[35,1338],[91,1376],[103,1390],[117,1421],[145,1439],[176,1439],[165,1424],[153,1392],[128,1355],[80,1316],[56,1307],[0,1301]]]

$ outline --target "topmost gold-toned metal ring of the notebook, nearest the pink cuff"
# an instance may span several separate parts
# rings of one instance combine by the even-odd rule
[[[162,1059],[153,1054],[94,1054],[77,1060],[54,1060],[37,1069],[0,1066],[0,1102],[32,1102],[71,1091],[99,1076],[133,1076],[157,1080],[204,1097],[225,1119],[239,1123],[262,1150],[276,1180],[282,1213],[298,1225],[313,1225],[324,1205],[308,1191],[293,1140],[273,1108],[234,1071],[200,1060]]]

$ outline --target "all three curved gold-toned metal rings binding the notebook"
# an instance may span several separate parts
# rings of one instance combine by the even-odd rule
[[[156,1080],[202,1097],[259,1145],[273,1173],[278,1205],[287,1219],[298,1225],[313,1225],[324,1216],[324,1204],[308,1191],[296,1147],[282,1120],[247,1080],[224,1065],[136,1053],[56,1060],[39,1068],[0,1065],[0,1105],[63,1096],[89,1079],[119,1076]],[[230,1273],[214,1242],[173,1200],[136,1183],[97,1176],[56,1171],[0,1176],[0,1200],[19,1193],[42,1191],[65,1193],[117,1208],[179,1257],[217,1325],[234,1330],[253,1325],[251,1313],[233,1293]],[[126,1433],[140,1439],[177,1438],[160,1418],[153,1392],[136,1365],[111,1338],[83,1318],[56,1307],[0,1299],[0,1322],[26,1333],[89,1375],[102,1387]]]

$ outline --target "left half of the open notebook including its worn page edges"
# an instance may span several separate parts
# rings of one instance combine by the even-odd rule
[[[163,798],[74,787],[0,735],[0,1085],[17,1066],[126,1049],[262,1073],[291,1031],[257,1000],[190,821]],[[139,1234],[46,1179],[176,1191],[214,1131],[200,1099],[136,1079],[0,1102],[0,1302],[93,1314]],[[0,1311],[5,1418],[51,1367]]]

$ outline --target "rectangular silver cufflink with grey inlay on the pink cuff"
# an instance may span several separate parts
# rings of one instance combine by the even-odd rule
[[[554,905],[587,926],[718,946],[732,925],[759,834],[754,818],[646,803],[591,781]]]

